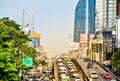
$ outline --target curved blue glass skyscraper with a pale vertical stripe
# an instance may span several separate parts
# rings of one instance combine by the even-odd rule
[[[74,42],[79,42],[80,34],[95,33],[96,0],[79,0],[75,9]]]

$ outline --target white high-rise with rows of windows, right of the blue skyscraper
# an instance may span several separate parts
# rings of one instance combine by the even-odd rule
[[[118,12],[120,15],[120,11]],[[112,28],[115,26],[115,19],[116,0],[96,0],[96,29]]]

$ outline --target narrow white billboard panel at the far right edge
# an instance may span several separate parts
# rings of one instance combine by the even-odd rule
[[[116,48],[120,48],[120,18],[116,19]]]

